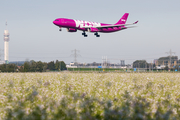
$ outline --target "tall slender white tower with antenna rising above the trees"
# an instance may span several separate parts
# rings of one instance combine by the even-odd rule
[[[7,22],[6,30],[4,30],[4,61],[6,64],[9,63],[9,31],[7,30]]]

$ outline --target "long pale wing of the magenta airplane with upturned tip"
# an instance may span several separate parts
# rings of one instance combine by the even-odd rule
[[[132,24],[116,24],[116,25],[103,25],[103,26],[91,26],[93,28],[102,29],[102,28],[113,28],[113,27],[121,27],[121,26],[128,26],[128,25],[134,25],[137,24],[138,21],[132,23]],[[83,26],[82,28],[90,28],[90,26]]]

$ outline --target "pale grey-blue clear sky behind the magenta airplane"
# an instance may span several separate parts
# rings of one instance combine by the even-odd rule
[[[120,59],[151,62],[167,56],[170,49],[180,57],[179,6],[180,0],[0,0],[0,48],[4,48],[8,20],[10,61],[58,59],[69,63],[74,60],[70,56],[73,49],[80,51],[77,60],[83,63],[101,62],[102,56],[111,63]],[[71,18],[114,24],[126,12],[130,13],[127,23],[139,20],[137,27],[99,33],[100,38],[93,33],[84,38],[81,31],[59,32],[52,23],[56,18]]]

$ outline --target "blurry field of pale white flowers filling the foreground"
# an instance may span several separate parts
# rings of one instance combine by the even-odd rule
[[[1,73],[0,119],[180,119],[180,73]]]

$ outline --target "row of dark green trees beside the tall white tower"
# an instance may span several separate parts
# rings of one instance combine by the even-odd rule
[[[66,70],[64,61],[56,62],[41,62],[41,61],[26,61],[23,65],[17,66],[16,64],[2,64],[0,65],[0,72],[47,72],[47,71],[62,71]]]

